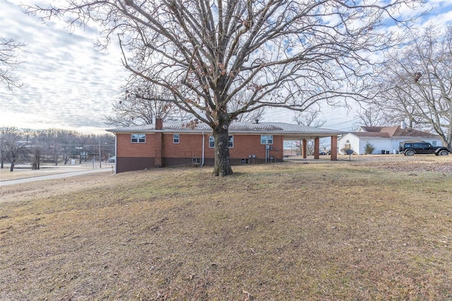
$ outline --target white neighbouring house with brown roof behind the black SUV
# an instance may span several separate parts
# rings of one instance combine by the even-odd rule
[[[352,149],[356,154],[365,153],[367,143],[374,147],[373,154],[398,153],[404,141],[425,141],[433,146],[441,146],[438,135],[427,131],[417,131],[404,126],[359,126],[358,131],[338,138],[338,153]]]

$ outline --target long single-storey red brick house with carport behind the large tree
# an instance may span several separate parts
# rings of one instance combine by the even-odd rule
[[[144,170],[151,167],[182,165],[214,165],[212,129],[207,124],[186,126],[184,122],[156,119],[155,124],[107,129],[112,132],[116,147],[116,171]],[[337,160],[338,135],[342,131],[320,129],[280,122],[232,122],[230,163],[258,164],[283,161],[284,141],[314,139],[319,158],[319,138],[331,137],[331,160]],[[303,143],[305,146],[307,143]],[[306,151],[304,151],[306,158]]]

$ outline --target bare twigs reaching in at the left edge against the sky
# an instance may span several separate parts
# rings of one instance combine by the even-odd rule
[[[0,82],[10,90],[22,85],[14,71],[22,63],[18,57],[24,46],[25,44],[13,38],[0,37]]]

